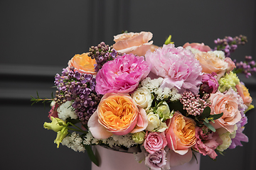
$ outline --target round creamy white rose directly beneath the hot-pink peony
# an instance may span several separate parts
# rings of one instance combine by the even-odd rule
[[[137,89],[137,91],[134,91],[134,93],[132,94],[132,99],[134,99],[134,101],[140,107],[144,108],[145,111],[147,111],[150,108],[151,103],[153,101],[151,93],[149,89],[146,89],[146,87],[141,87]]]

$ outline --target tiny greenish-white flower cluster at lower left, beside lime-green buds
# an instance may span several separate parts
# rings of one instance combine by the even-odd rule
[[[76,132],[73,132],[70,136],[65,137],[61,144],[73,149],[75,152],[85,152],[85,147],[82,145],[82,138]]]

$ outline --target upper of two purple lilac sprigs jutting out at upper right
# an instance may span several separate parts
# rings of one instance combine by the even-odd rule
[[[247,37],[244,35],[239,35],[234,38],[230,36],[224,39],[218,38],[214,40],[215,45],[217,45],[214,50],[221,50],[225,52],[225,57],[230,57],[230,53],[234,52],[238,48],[238,45],[245,45],[246,42]]]

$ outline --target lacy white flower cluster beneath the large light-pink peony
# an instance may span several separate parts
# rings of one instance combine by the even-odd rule
[[[160,88],[159,86],[163,81],[164,79],[161,77],[159,77],[158,79],[150,79],[149,77],[146,77],[146,79],[142,81],[142,86],[146,87],[146,89],[149,89],[151,93],[156,94],[156,100],[163,100],[164,98],[170,97],[171,101],[176,101],[181,98],[181,94],[178,94],[178,89],[176,88]]]

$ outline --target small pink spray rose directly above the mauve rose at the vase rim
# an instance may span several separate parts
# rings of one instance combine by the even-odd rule
[[[166,137],[162,132],[149,132],[144,140],[144,148],[149,154],[154,154],[154,152],[164,149],[166,145]]]

